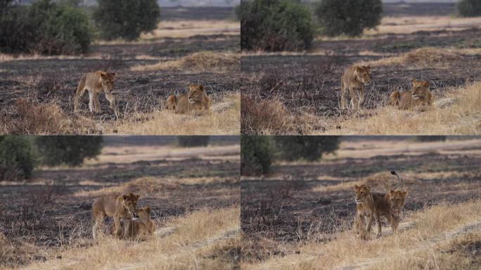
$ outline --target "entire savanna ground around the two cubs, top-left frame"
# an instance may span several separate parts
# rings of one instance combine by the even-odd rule
[[[232,8],[162,8],[158,29],[138,41],[95,41],[80,56],[0,54],[1,134],[239,134],[240,23]],[[73,95],[85,72],[116,73],[117,115],[101,95],[91,115]],[[167,96],[203,84],[210,115],[175,115]]]

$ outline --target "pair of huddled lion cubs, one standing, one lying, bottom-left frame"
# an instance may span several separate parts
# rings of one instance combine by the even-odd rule
[[[150,219],[150,207],[136,209],[140,195],[128,193],[121,196],[104,196],[92,203],[92,235],[97,238],[97,230],[105,217],[112,217],[114,224],[110,233],[119,238],[145,240],[155,231],[155,224]],[[124,223],[120,222],[123,219]]]

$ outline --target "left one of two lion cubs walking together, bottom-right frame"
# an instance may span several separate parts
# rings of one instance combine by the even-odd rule
[[[371,186],[354,186],[356,193],[357,215],[354,219],[354,231],[359,233],[362,239],[368,239],[371,234],[371,224],[373,221],[374,201],[371,195]],[[367,229],[366,229],[367,223]]]

